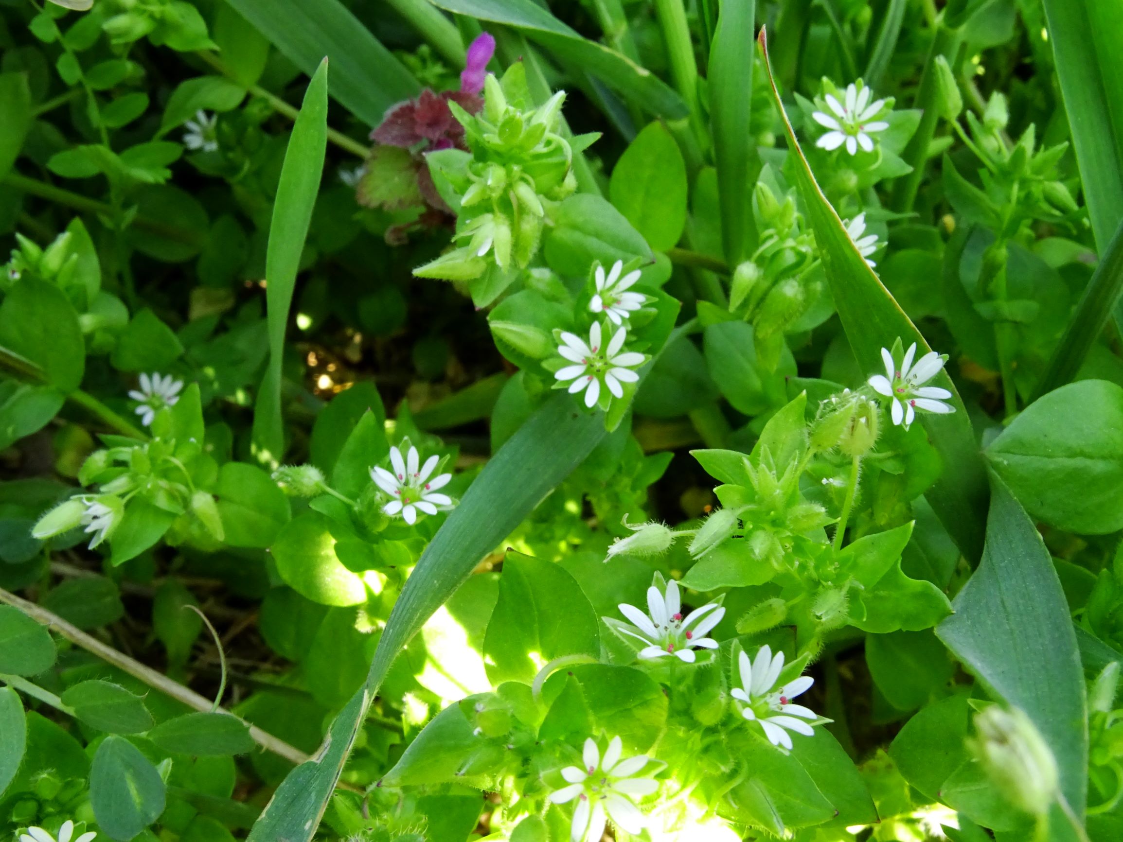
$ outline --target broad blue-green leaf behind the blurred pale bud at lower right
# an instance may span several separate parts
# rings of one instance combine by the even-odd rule
[[[1061,791],[1083,815],[1088,712],[1068,604],[1040,533],[997,477],[983,560],[952,607],[935,633],[993,695],[1033,721],[1057,758]]]

